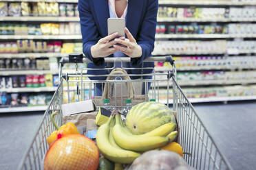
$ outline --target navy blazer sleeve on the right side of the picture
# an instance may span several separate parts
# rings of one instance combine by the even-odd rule
[[[158,14],[158,0],[147,1],[147,9],[142,25],[136,38],[138,45],[142,48],[140,58],[131,58],[131,64],[141,64],[143,60],[151,56],[156,36],[156,17]]]

